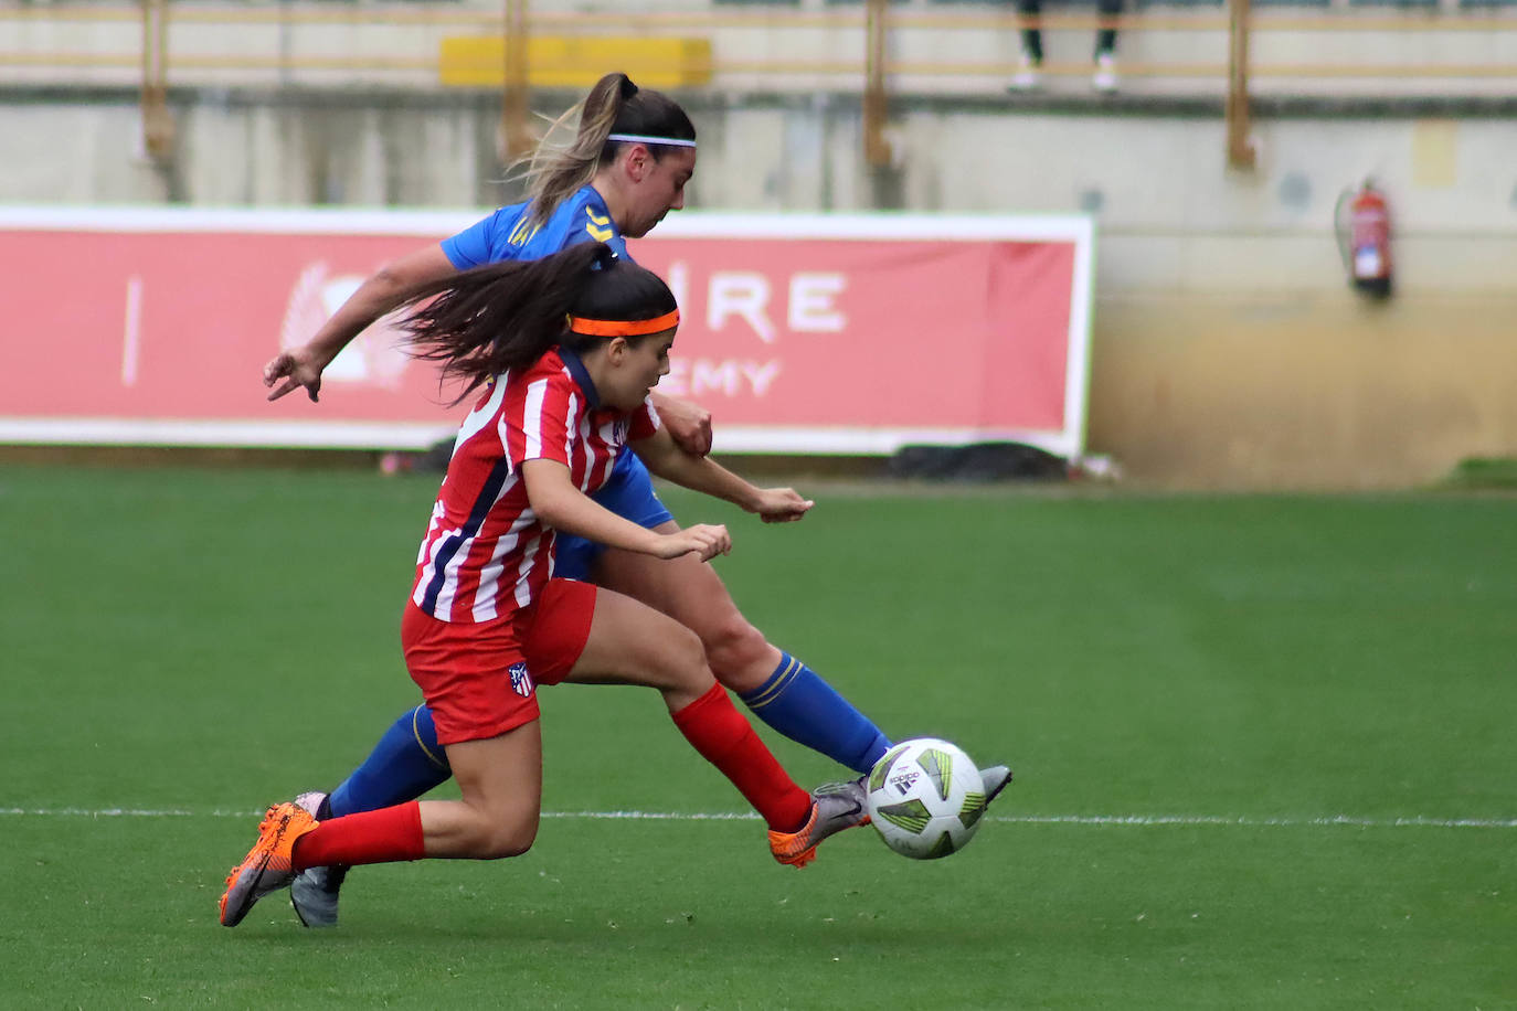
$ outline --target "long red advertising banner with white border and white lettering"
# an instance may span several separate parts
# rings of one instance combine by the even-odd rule
[[[387,321],[319,405],[267,403],[259,373],[381,264],[476,217],[0,209],[0,441],[449,438],[466,408]],[[631,253],[683,308],[660,390],[711,411],[719,450],[1083,450],[1088,218],[681,214]]]

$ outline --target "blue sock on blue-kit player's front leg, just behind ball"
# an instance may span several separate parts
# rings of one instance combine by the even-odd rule
[[[890,747],[890,740],[863,712],[784,652],[769,681],[739,697],[792,741],[859,773],[874,768]]]

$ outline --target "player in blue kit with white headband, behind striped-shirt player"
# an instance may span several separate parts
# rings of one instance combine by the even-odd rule
[[[446,279],[481,264],[534,259],[586,241],[627,253],[625,238],[646,235],[669,211],[684,206],[684,185],[695,171],[695,127],[666,95],[639,89],[625,74],[607,74],[586,97],[567,150],[540,150],[531,170],[531,197],[502,208],[475,226],[381,268],[300,349],[264,368],[278,399],[305,387],[313,400],[322,370],[366,326],[397,305],[411,285]],[[710,450],[708,417],[680,400],[655,405],[671,435],[687,450]],[[648,470],[631,453],[595,500],[658,532],[678,529],[654,496]],[[636,597],[692,629],[716,679],[780,734],[866,773],[889,738],[822,678],[769,644],[743,618],[721,577],[699,559],[660,561],[563,537],[557,574],[589,579]],[[425,706],[402,715],[373,753],[331,796],[306,794],[313,812],[341,815],[422,796],[449,778]],[[986,773],[986,794],[1004,787],[1004,767]],[[299,876],[291,899],[308,926],[337,920],[341,867],[314,867]]]

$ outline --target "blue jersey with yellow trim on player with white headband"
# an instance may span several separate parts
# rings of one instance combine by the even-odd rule
[[[542,259],[578,243],[605,243],[617,256],[627,256],[627,241],[595,186],[579,186],[540,227],[526,224],[526,202],[501,208],[443,239],[443,253],[458,270],[504,259]]]

